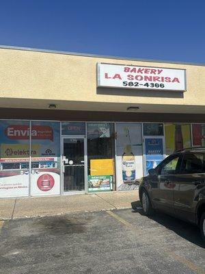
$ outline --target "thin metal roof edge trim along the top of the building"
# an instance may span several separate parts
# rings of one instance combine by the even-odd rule
[[[44,53],[55,53],[55,54],[64,54],[64,55],[77,55],[83,57],[90,57],[90,58],[107,58],[107,59],[115,59],[115,60],[131,60],[131,61],[140,61],[140,62],[154,62],[154,63],[169,63],[169,64],[188,64],[191,66],[205,66],[204,63],[193,63],[193,62],[176,62],[176,61],[167,61],[167,60],[152,60],[152,59],[141,59],[141,58],[126,58],[120,56],[112,56],[112,55],[98,55],[92,53],[77,53],[77,52],[70,52],[70,51],[55,51],[52,49],[33,49],[30,47],[16,47],[16,46],[5,46],[0,45],[0,49],[15,49],[18,51],[37,51],[37,52],[44,52]]]

